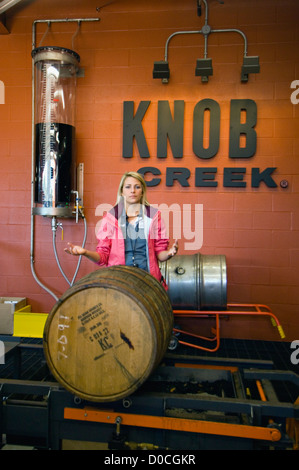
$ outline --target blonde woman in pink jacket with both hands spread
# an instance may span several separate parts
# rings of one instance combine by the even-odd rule
[[[159,261],[167,261],[178,250],[178,241],[168,249],[168,238],[161,213],[149,205],[146,184],[139,173],[125,173],[116,205],[103,217],[97,234],[96,251],[71,243],[65,251],[83,255],[99,266],[127,265],[148,271],[163,282]]]

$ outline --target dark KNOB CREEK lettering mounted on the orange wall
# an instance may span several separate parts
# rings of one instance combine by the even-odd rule
[[[140,101],[134,113],[134,101],[125,101],[123,105],[123,158],[132,158],[133,142],[136,140],[141,158],[150,158],[150,153],[143,129],[143,120],[150,101]],[[169,142],[173,158],[179,162],[183,158],[184,147],[184,111],[185,102],[176,100],[173,103],[173,114],[169,101],[158,101],[157,119],[157,158],[167,157],[167,144]],[[209,142],[204,145],[205,113],[210,114]],[[229,130],[229,158],[249,159],[255,155],[257,134],[255,130],[257,122],[257,106],[250,99],[233,99],[230,102],[230,130]],[[242,140],[243,139],[243,140]],[[241,146],[242,141],[242,146]],[[220,142],[220,106],[213,99],[198,101],[193,110],[192,147],[195,157],[199,160],[210,160],[216,156]],[[245,142],[245,145],[244,145]],[[196,167],[195,186],[218,186],[217,167]],[[252,168],[251,187],[258,188],[262,183],[269,188],[277,187],[272,178],[275,167]],[[159,168],[144,166],[139,173],[146,175],[148,186],[157,186],[161,182]],[[223,186],[244,188],[246,167],[227,167],[223,169]],[[152,175],[152,176],[149,176]],[[191,171],[184,167],[166,168],[166,186],[173,186],[175,181],[181,186],[190,186]],[[150,179],[151,178],[151,179]]]

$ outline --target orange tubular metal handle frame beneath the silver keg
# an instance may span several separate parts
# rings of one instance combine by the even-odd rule
[[[282,326],[279,323],[278,318],[270,310],[267,305],[262,304],[227,304],[226,310],[173,310],[173,315],[175,319],[178,318],[205,318],[205,317],[215,317],[215,328],[212,328],[212,333],[214,336],[206,337],[199,336],[194,333],[181,330],[179,328],[174,328],[174,333],[183,333],[185,335],[191,336],[193,338],[202,339],[208,342],[216,342],[214,347],[208,348],[204,346],[198,346],[192,343],[178,340],[178,342],[184,346],[191,346],[192,348],[202,349],[204,351],[215,352],[220,346],[220,317],[221,316],[231,316],[231,315],[250,315],[250,316],[268,316],[271,319],[272,325],[277,327],[280,337],[285,338]]]

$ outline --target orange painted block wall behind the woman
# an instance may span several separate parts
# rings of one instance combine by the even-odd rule
[[[72,3],[72,9],[70,9]],[[99,2],[105,3],[105,2]],[[213,29],[239,28],[248,38],[248,54],[260,57],[261,72],[240,83],[243,41],[234,33],[211,34],[208,56],[214,75],[202,84],[194,75],[197,58],[203,57],[203,37],[174,38],[169,48],[171,79],[168,85],[153,80],[153,63],[164,57],[167,37],[178,30],[199,30],[203,14],[196,14],[193,0],[123,0],[99,11],[86,0],[33,0],[6,14],[8,35],[0,36],[0,80],[5,104],[0,105],[0,295],[26,296],[35,312],[48,312],[54,300],[34,281],[30,269],[31,197],[31,48],[32,22],[47,18],[100,17],[96,23],[37,26],[36,45],[72,48],[81,56],[85,77],[77,86],[77,162],[85,165],[84,207],[88,222],[87,247],[95,247],[99,204],[113,204],[124,171],[153,166],[161,183],[149,189],[152,203],[203,204],[202,254],[224,254],[228,266],[228,300],[269,305],[282,323],[286,339],[299,337],[299,104],[290,100],[291,82],[299,80],[299,5],[297,0],[226,0],[209,2]],[[298,95],[299,97],[299,95]],[[203,160],[192,150],[195,104],[211,98],[221,109],[220,146],[215,157]],[[231,99],[252,99],[257,104],[257,150],[249,159],[230,159],[229,109]],[[150,151],[142,159],[134,146],[131,159],[122,157],[123,102],[151,104],[143,120]],[[158,101],[184,100],[184,156],[157,158]],[[166,187],[167,167],[191,171],[189,187]],[[217,188],[195,187],[197,167],[217,167]],[[245,167],[246,188],[223,187],[223,168]],[[251,168],[277,167],[277,188],[263,183],[251,188]],[[287,180],[286,189],[280,187]],[[36,217],[35,269],[57,295],[67,289],[52,248],[50,219]],[[82,221],[63,221],[64,240],[57,232],[57,249],[71,277],[74,259],[64,255],[67,241],[81,243]],[[184,242],[180,252],[184,253]],[[190,252],[185,252],[190,254]],[[79,276],[96,267],[83,260]],[[200,330],[198,322],[195,330]],[[235,338],[279,340],[267,320],[224,321],[222,335]]]

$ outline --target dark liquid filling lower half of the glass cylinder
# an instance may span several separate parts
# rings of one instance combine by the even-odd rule
[[[44,207],[69,204],[76,183],[75,127],[38,123],[35,132],[35,202]]]

